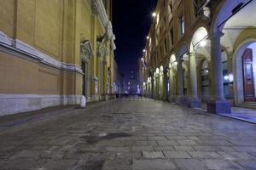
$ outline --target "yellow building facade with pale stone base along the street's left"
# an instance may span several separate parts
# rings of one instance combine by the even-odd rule
[[[0,0],[0,9],[0,116],[111,96],[111,0]]]

